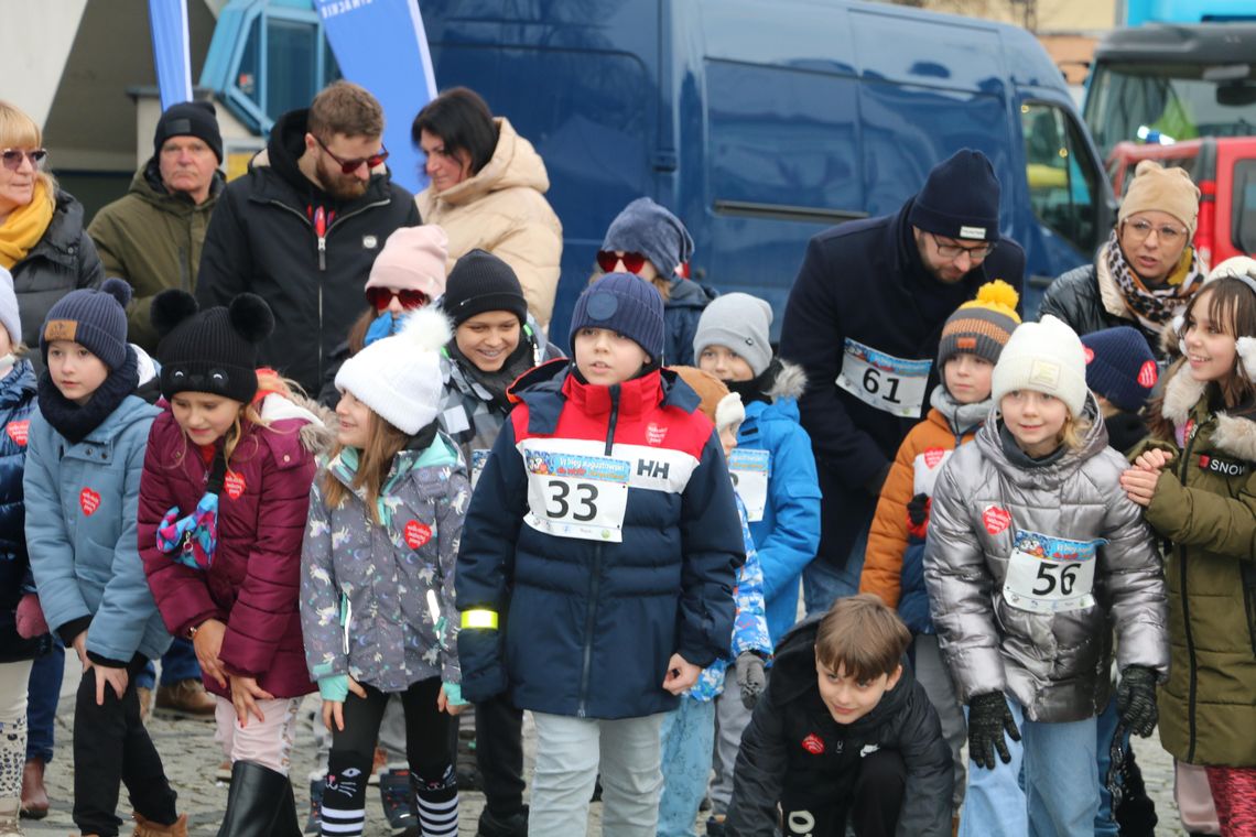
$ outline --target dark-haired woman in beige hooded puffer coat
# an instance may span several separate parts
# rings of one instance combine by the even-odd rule
[[[474,90],[453,88],[414,117],[431,183],[414,198],[423,223],[450,236],[448,270],[472,250],[510,265],[528,309],[549,328],[563,256],[563,225],[545,201],[549,174],[533,144]]]

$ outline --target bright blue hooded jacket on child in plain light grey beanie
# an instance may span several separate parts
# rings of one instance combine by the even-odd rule
[[[767,632],[780,641],[798,620],[798,584],[820,546],[820,486],[811,437],[799,424],[798,398],[806,387],[801,368],[781,364],[767,392],[771,403],[752,400],[737,433],[737,447],[771,453],[764,518],[750,525],[764,568]]]

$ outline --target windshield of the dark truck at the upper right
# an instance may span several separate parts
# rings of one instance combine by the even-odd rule
[[[1086,125],[1107,158],[1123,139],[1177,142],[1256,134],[1256,61],[1099,64],[1086,95]]]

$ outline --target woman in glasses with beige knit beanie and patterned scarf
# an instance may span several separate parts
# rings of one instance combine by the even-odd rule
[[[1198,217],[1199,188],[1186,169],[1144,159],[1094,264],[1051,282],[1039,314],[1054,314],[1083,335],[1132,325],[1163,360],[1166,328],[1172,328],[1208,272],[1191,246]]]

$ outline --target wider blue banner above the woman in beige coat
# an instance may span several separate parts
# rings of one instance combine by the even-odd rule
[[[418,0],[314,0],[340,74],[384,108],[384,146],[394,182],[411,192],[427,186],[409,125],[436,98],[436,74]]]

